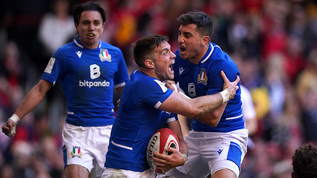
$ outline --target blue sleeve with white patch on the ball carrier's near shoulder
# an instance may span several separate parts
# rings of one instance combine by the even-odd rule
[[[134,91],[137,102],[145,102],[157,109],[173,92],[165,87],[165,83],[154,78],[139,80]]]

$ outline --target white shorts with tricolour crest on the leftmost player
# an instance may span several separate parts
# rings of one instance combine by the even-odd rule
[[[111,128],[112,125],[82,127],[65,123],[62,131],[64,168],[75,164],[91,172],[97,163],[96,174],[100,177],[105,170]]]

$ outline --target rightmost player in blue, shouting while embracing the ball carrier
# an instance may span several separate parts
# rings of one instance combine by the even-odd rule
[[[240,75],[232,59],[211,43],[213,22],[205,12],[179,16],[179,49],[173,64],[174,81],[191,98],[222,90],[224,71],[229,81]],[[179,178],[237,178],[247,152],[248,130],[244,128],[240,83],[232,100],[203,117],[194,118],[185,137],[188,160],[184,166],[167,172]]]

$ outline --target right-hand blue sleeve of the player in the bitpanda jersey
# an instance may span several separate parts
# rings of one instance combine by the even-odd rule
[[[118,49],[118,69],[117,72],[114,74],[114,88],[122,87],[128,81],[129,74],[127,70],[127,65],[125,64],[121,50]]]

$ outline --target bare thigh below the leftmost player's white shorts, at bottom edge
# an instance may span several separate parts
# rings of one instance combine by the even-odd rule
[[[89,171],[87,168],[71,164],[65,168],[65,178],[88,178]]]

